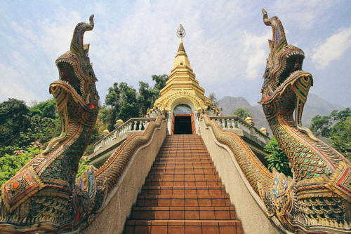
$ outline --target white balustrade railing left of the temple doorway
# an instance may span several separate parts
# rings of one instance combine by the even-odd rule
[[[156,121],[156,118],[130,118],[128,121],[126,121],[126,123],[119,125],[112,132],[110,132],[110,134],[102,137],[100,141],[96,142],[94,144],[94,152],[109,144],[112,142],[112,140],[123,136],[126,132],[145,130],[151,121]]]

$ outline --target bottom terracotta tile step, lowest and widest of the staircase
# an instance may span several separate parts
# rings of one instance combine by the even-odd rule
[[[126,222],[125,234],[242,234],[241,222],[213,220],[129,220]]]

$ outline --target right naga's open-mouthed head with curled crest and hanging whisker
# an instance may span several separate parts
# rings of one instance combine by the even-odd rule
[[[277,16],[268,18],[265,9],[262,9],[262,13],[265,25],[272,26],[273,40],[268,41],[270,55],[263,75],[265,81],[259,103],[263,105],[267,120],[278,113],[293,113],[296,109],[296,127],[317,141],[312,132],[301,123],[303,106],[313,85],[311,74],[302,69],[305,53],[296,46],[288,45],[284,27]]]

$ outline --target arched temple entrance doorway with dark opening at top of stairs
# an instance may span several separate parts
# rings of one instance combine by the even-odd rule
[[[187,104],[179,104],[173,110],[171,134],[195,134],[194,112]]]

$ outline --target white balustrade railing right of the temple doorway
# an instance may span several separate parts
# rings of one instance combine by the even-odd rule
[[[256,137],[261,142],[268,142],[270,137],[260,132],[255,126],[239,118],[239,116],[211,116],[211,120],[216,121],[223,130],[241,129],[249,135]]]

